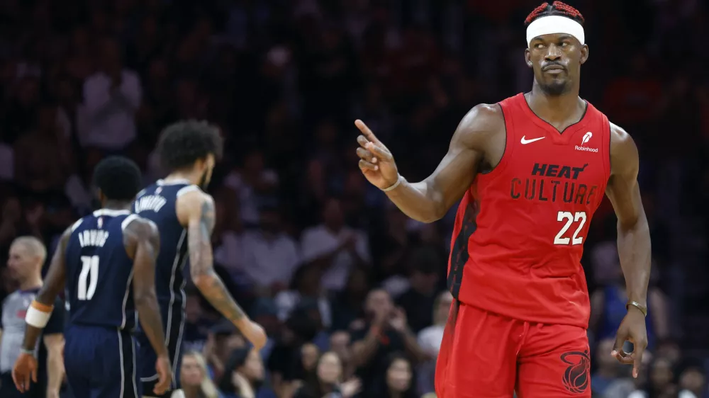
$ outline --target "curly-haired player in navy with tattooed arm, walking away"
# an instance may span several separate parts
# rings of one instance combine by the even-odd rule
[[[217,127],[187,120],[167,126],[157,143],[157,152],[168,176],[138,193],[133,211],[157,224],[160,254],[155,278],[157,298],[165,324],[165,341],[172,360],[175,382],[164,397],[179,389],[179,365],[185,322],[183,268],[189,259],[190,274],[202,295],[229,319],[256,348],[266,343],[264,329],[252,322],[231,297],[213,268],[211,234],[214,229],[214,200],[203,190],[211,180],[222,153]],[[140,358],[150,363],[155,356],[143,334],[138,334]],[[157,380],[155,370],[140,369],[145,392]]]

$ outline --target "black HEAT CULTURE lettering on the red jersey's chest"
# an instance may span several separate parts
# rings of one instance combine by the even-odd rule
[[[515,200],[590,205],[603,191],[598,185],[579,182],[587,166],[588,163],[583,166],[535,163],[530,176],[512,178],[510,196]]]

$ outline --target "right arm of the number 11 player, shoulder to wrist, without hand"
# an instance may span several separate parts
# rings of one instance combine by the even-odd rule
[[[167,356],[160,307],[155,292],[155,259],[160,251],[160,234],[155,224],[137,217],[123,231],[125,249],[133,254],[133,300],[140,326],[158,356]]]

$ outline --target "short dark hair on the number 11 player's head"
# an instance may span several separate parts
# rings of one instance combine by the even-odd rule
[[[108,200],[133,200],[142,181],[138,165],[125,157],[107,157],[94,167],[94,186]]]

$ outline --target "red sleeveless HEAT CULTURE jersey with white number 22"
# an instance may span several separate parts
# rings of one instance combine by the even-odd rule
[[[458,207],[448,287],[457,300],[506,317],[588,328],[581,255],[610,177],[610,124],[588,103],[559,132],[524,94],[500,103],[507,142]]]

